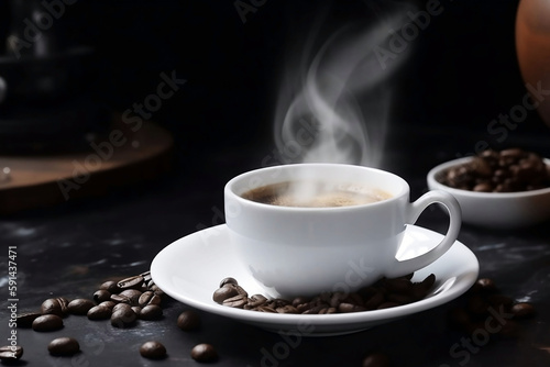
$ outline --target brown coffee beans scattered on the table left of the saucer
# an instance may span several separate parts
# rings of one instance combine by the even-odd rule
[[[91,298],[65,297],[48,298],[42,302],[40,311],[18,314],[18,327],[32,327],[35,332],[52,332],[64,327],[68,315],[86,315],[90,321],[110,320],[114,327],[134,326],[138,320],[163,319],[162,305],[166,296],[151,278],[150,271],[122,280],[107,280],[99,286]],[[177,318],[177,326],[186,332],[200,327],[200,316],[193,310],[183,311]],[[74,337],[57,337],[47,345],[53,356],[72,356],[80,352],[80,345]],[[140,347],[144,358],[161,359],[166,357],[166,347],[157,341],[148,341]],[[0,360],[19,359],[23,355],[21,346],[1,346]],[[190,355],[197,362],[212,362],[218,358],[210,344],[196,345]]]

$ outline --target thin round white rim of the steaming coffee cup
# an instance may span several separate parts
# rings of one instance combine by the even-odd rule
[[[396,179],[400,182],[402,188],[398,192],[395,194],[392,194],[389,198],[381,200],[381,201],[375,201],[375,202],[370,202],[370,203],[363,203],[363,204],[355,204],[355,205],[345,205],[345,207],[286,207],[286,205],[272,205],[267,203],[262,203],[257,201],[253,201],[250,199],[243,198],[241,194],[234,192],[233,186],[237,182],[240,182],[248,177],[252,177],[254,175],[257,175],[263,171],[268,171],[268,170],[275,170],[275,169],[295,169],[296,167],[299,166],[309,166],[309,167],[349,167],[346,169],[362,169],[362,170],[370,170],[374,171],[378,175],[387,175],[391,176],[393,179]],[[285,168],[287,167],[287,168]],[[275,184],[275,182],[273,182]],[[272,184],[265,184],[265,185],[272,185]],[[251,188],[252,189],[252,188]],[[360,166],[360,165],[351,165],[351,164],[334,164],[334,163],[298,163],[298,164],[286,164],[286,165],[276,165],[276,166],[268,166],[268,167],[262,167],[262,168],[256,168],[256,169],[251,169],[249,171],[242,173],[232,179],[230,179],[224,187],[224,196],[226,199],[228,198],[233,198],[238,200],[240,203],[245,203],[248,205],[252,205],[253,208],[263,208],[265,210],[272,210],[272,211],[294,211],[294,212],[326,212],[326,211],[350,211],[350,210],[364,210],[365,208],[374,208],[374,207],[380,207],[380,205],[385,205],[389,202],[396,201],[403,196],[406,196],[410,192],[410,186],[408,182],[402,178],[400,176],[393,174],[391,171],[380,169],[380,168],[374,168],[374,167],[367,167],[367,166]]]

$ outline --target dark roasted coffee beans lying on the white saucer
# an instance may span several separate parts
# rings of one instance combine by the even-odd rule
[[[436,276],[426,277],[420,282],[410,279],[413,274],[399,278],[383,278],[370,287],[356,292],[323,292],[312,298],[296,297],[293,300],[282,298],[267,299],[263,294],[249,293],[239,286],[234,278],[221,280],[212,299],[223,305],[237,309],[296,314],[349,313],[388,309],[419,301],[428,296]]]

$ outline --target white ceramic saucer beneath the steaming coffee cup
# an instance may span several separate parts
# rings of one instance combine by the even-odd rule
[[[408,255],[426,252],[443,236],[408,225],[404,237],[399,253]],[[166,246],[153,259],[151,276],[168,296],[199,310],[273,332],[292,331],[300,335],[322,336],[358,332],[449,302],[475,282],[479,269],[475,255],[462,243],[455,242],[442,257],[415,273],[414,281],[420,281],[432,273],[437,279],[433,291],[418,302],[385,310],[322,315],[233,309],[212,300],[212,293],[223,278],[235,278],[249,294],[266,292],[235,258],[227,226],[222,224],[193,233]]]

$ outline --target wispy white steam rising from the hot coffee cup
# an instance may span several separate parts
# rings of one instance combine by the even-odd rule
[[[275,143],[285,163],[381,164],[389,111],[388,78],[407,58],[386,67],[374,49],[387,45],[404,14],[358,30],[346,26],[314,49],[317,30],[290,59],[279,89]]]

